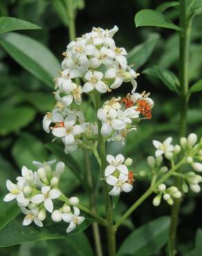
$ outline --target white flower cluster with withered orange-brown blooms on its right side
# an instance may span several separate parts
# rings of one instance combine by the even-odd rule
[[[109,140],[122,140],[124,143],[127,134],[136,130],[133,122],[140,120],[140,114],[150,118],[154,102],[147,96],[148,94],[145,97],[145,92],[131,93],[122,100],[112,98],[104,102],[97,113],[98,119],[102,121],[101,134],[109,136]]]

